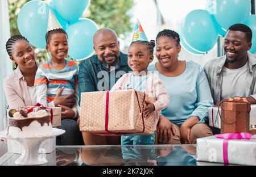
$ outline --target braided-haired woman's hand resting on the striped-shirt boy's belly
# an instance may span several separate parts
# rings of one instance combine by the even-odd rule
[[[75,103],[74,95],[70,94],[67,96],[61,96],[62,92],[64,90],[64,87],[60,88],[60,90],[57,92],[55,98],[53,99],[53,102],[55,106],[63,105],[71,108]]]

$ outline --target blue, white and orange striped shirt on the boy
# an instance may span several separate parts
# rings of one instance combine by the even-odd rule
[[[77,115],[78,107],[78,71],[76,61],[65,59],[66,65],[62,70],[56,70],[51,61],[43,62],[36,71],[36,101],[44,106],[54,107],[52,102],[61,87],[64,87],[61,96],[73,94],[76,104],[73,110]]]

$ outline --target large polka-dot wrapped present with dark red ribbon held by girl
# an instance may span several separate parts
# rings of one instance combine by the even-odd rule
[[[154,102],[135,90],[82,92],[80,130],[101,135],[153,134],[155,111],[144,116],[145,100]]]

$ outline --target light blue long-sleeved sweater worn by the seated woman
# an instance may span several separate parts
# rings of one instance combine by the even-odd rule
[[[148,70],[156,70],[150,65]],[[199,117],[200,123],[205,123],[208,117],[208,107],[213,106],[209,83],[204,70],[193,61],[186,61],[186,69],[176,77],[166,77],[159,73],[171,101],[162,115],[172,123],[181,125],[188,117]]]

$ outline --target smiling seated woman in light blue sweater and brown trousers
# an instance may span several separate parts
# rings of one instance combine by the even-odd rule
[[[194,144],[196,138],[213,134],[205,124],[208,107],[213,106],[207,77],[199,64],[178,60],[180,50],[178,33],[170,29],[158,33],[155,53],[158,62],[149,70],[159,72],[171,98],[158,123],[160,144]]]

